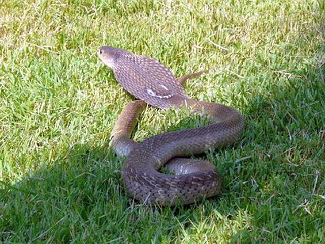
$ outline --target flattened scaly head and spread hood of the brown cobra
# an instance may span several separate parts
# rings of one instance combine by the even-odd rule
[[[110,46],[102,46],[97,52],[113,69],[116,80],[136,98],[165,109],[180,98],[188,98],[172,72],[157,60]]]

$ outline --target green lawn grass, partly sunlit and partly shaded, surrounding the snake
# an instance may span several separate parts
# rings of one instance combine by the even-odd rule
[[[1,1],[0,242],[325,242],[325,2]],[[134,98],[96,49],[151,56],[195,99],[241,111],[233,146],[207,152],[218,197],[133,201],[108,148]],[[187,114],[188,115],[188,114]],[[148,108],[137,140],[188,128]]]

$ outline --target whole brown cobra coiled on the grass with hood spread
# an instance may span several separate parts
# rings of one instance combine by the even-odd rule
[[[216,167],[205,160],[184,157],[233,144],[243,132],[244,119],[232,107],[188,97],[184,82],[207,71],[177,80],[154,58],[111,46],[101,46],[97,53],[113,69],[118,83],[138,99],[123,108],[110,141],[115,153],[126,157],[121,178],[128,194],[143,204],[160,206],[191,204],[218,195],[222,180]],[[147,104],[165,110],[187,107],[191,113],[206,116],[210,124],[164,132],[135,142],[131,133]],[[164,165],[173,174],[159,172]]]

